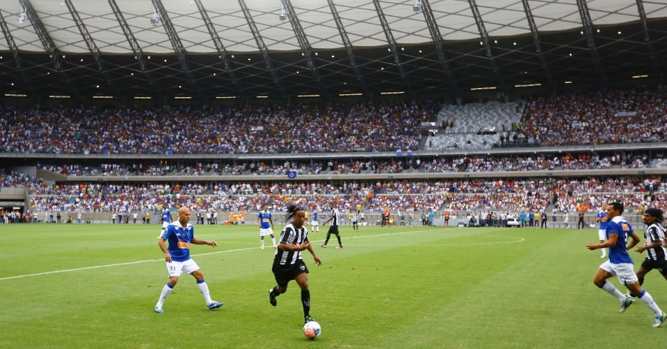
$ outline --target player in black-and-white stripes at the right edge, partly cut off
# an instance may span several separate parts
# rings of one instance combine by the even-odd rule
[[[642,215],[642,221],[647,225],[644,231],[644,246],[635,250],[638,253],[646,251],[646,259],[637,272],[639,285],[644,284],[644,276],[653,269],[657,269],[667,279],[667,253],[665,244],[665,228],[662,226],[664,212],[661,209],[650,208]]]

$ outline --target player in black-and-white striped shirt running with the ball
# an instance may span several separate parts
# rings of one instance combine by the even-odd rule
[[[303,227],[306,220],[306,210],[302,207],[290,205],[287,207],[285,221],[287,223],[283,231],[280,232],[280,244],[276,249],[276,255],[273,258],[273,267],[271,272],[276,278],[276,285],[269,290],[269,303],[272,306],[278,305],[276,297],[287,292],[287,284],[290,281],[297,281],[301,288],[301,305],[303,306],[303,322],[315,321],[310,317],[310,290],[308,290],[308,267],[301,259],[301,251],[308,250],[315,264],[322,265],[322,260],[317,257],[308,241],[308,230]]]

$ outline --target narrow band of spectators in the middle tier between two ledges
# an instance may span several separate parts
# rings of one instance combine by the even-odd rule
[[[431,160],[432,159],[432,160]],[[421,173],[442,172],[504,172],[539,170],[599,170],[612,165],[619,168],[647,168],[651,159],[645,154],[595,153],[544,156],[438,156],[437,158],[393,158],[389,160],[336,159],[329,161],[285,161],[267,165],[264,161],[244,161],[238,165],[196,162],[189,165],[149,165],[144,163],[102,165],[38,165],[38,168],[69,176],[202,176],[202,175],[287,175],[296,174],[360,174],[400,173],[405,170]]]

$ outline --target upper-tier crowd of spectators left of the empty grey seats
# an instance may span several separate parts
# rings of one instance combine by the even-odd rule
[[[262,154],[417,149],[421,140],[419,126],[433,119],[438,107],[431,101],[205,110],[10,107],[0,110],[0,151]]]

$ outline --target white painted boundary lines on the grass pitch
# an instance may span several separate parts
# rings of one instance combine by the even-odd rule
[[[391,228],[390,228],[391,229]],[[455,228],[447,228],[447,229],[442,229],[442,230],[454,230]],[[460,228],[456,228],[460,229]],[[387,236],[387,235],[402,235],[402,234],[412,234],[415,232],[439,232],[442,230],[417,230],[417,231],[404,231],[404,232],[387,232],[386,234],[375,234],[375,235],[361,235],[361,236],[354,236],[354,237],[346,237],[345,239],[357,239],[357,238],[363,238],[363,237],[382,237],[382,236]],[[319,233],[316,233],[319,234]],[[326,234],[322,232],[322,234]],[[202,236],[207,236],[207,235],[199,235],[200,237]],[[525,239],[521,238],[518,240],[514,241],[509,241],[509,242],[487,242],[487,243],[475,243],[475,245],[479,244],[513,244],[515,242],[523,242]],[[316,240],[314,242],[320,242],[324,241],[322,240]],[[220,244],[225,244],[226,242],[220,242]],[[234,242],[230,242],[229,244],[235,244]],[[469,244],[437,244],[437,246],[465,246]],[[357,246],[357,245],[354,245]],[[396,245],[359,245],[359,246],[396,246]],[[403,245],[407,246],[407,245]],[[420,245],[410,245],[410,246],[420,246]],[[433,245],[429,245],[433,246]],[[248,250],[254,250],[260,248],[260,246],[255,246],[255,247],[248,247],[248,248],[237,248],[234,250],[225,250],[225,251],[216,251],[216,252],[208,252],[208,253],[198,253],[193,256],[200,256],[200,255],[216,255],[218,253],[230,253],[230,252],[239,252],[239,251],[248,251]],[[41,276],[41,275],[49,275],[49,274],[58,274],[58,273],[67,273],[67,272],[80,272],[82,270],[89,270],[89,269],[100,269],[100,268],[108,268],[108,267],[120,267],[122,265],[133,265],[133,264],[140,264],[140,263],[146,263],[146,262],[160,262],[164,261],[163,258],[156,259],[156,260],[137,260],[135,262],[125,262],[125,263],[114,263],[114,264],[109,264],[109,265],[96,265],[93,267],[83,267],[83,268],[75,268],[75,269],[62,269],[62,270],[54,270],[52,272],[42,272],[42,273],[36,273],[36,274],[25,274],[25,275],[16,275],[16,276],[7,276],[5,278],[0,278],[0,281],[5,281],[5,280],[12,280],[12,279],[22,279],[22,278],[27,278],[31,276]]]

